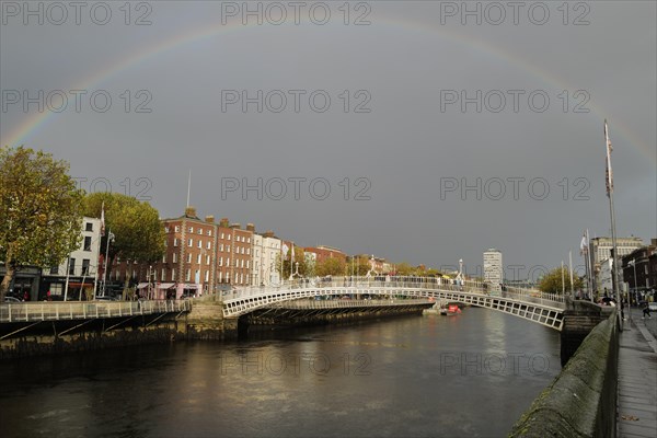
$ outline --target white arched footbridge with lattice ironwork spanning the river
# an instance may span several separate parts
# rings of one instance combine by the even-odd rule
[[[558,331],[563,327],[566,308],[563,296],[510,287],[495,292],[480,281],[454,285],[435,277],[323,277],[234,290],[222,299],[223,316],[237,318],[286,301],[345,296],[456,301],[497,310]]]

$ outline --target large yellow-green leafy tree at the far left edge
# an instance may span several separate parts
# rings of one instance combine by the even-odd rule
[[[49,153],[0,149],[0,302],[21,266],[59,265],[80,243],[83,192]]]

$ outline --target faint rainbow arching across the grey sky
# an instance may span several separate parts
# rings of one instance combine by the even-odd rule
[[[492,56],[495,59],[515,66],[519,70],[527,72],[528,74],[539,79],[543,83],[555,89],[569,91],[576,89],[574,87],[568,87],[568,84],[561,78],[557,78],[548,71],[542,71],[538,69],[532,64],[528,62],[521,57],[509,53],[503,47],[492,45],[487,41],[476,38],[472,35],[452,32],[446,26],[430,27],[423,23],[400,20],[399,18],[392,19],[387,16],[377,16],[376,20],[372,19],[372,25],[381,25],[392,30],[401,30],[406,33],[419,33],[431,36],[439,35],[440,37],[446,38],[450,42],[465,46],[465,48],[468,49],[476,50],[484,56]],[[229,32],[235,32],[240,30],[249,31],[255,28],[262,30],[263,27],[266,26],[258,26],[257,24],[243,25],[240,22],[232,22],[226,25],[222,25],[220,23],[214,23],[199,30],[176,34],[168,39],[159,42],[158,44],[139,48],[138,50],[135,50],[132,54],[126,56],[125,58],[118,61],[113,61],[110,66],[100,68],[93,74],[82,79],[70,89],[87,90],[93,87],[97,87],[100,83],[119,74],[123,71],[126,71],[130,68],[135,68],[139,65],[147,62],[150,59],[157,58],[158,56],[186,46],[188,44],[210,39]],[[599,116],[600,137],[602,137],[602,120],[607,117],[608,112],[606,112],[604,108],[598,107],[597,105],[592,104],[592,102],[587,103],[587,107],[591,111],[591,113]],[[0,145],[18,146],[22,143],[27,143],[31,136],[38,132],[39,129],[43,129],[49,122],[54,120],[56,116],[57,113],[43,112],[26,117],[21,125],[19,125],[8,135],[7,140],[3,140],[2,142],[0,142]],[[650,161],[654,161],[657,165],[657,157],[655,157],[655,150],[653,148],[650,148],[646,142],[637,138],[631,129],[629,129],[622,122],[620,122],[620,119],[613,119],[611,122],[613,123],[614,137],[623,138],[629,145],[636,148],[642,154],[644,154]],[[602,140],[600,140],[600,142],[602,142]]]

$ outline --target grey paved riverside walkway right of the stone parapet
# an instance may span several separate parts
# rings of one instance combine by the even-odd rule
[[[619,437],[657,437],[657,341],[639,309],[626,312],[619,347]]]

